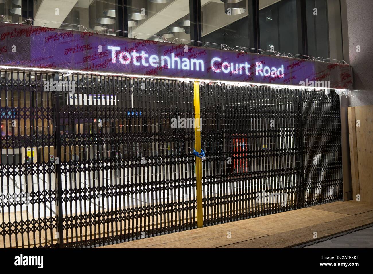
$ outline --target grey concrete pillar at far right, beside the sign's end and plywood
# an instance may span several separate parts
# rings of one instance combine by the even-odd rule
[[[351,97],[341,96],[341,134],[344,200],[352,199],[350,145],[348,142],[347,107],[373,105],[371,45],[373,35],[372,0],[341,0],[341,22],[344,60],[352,66],[354,88]]]

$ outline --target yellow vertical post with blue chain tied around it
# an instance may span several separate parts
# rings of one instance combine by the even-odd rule
[[[198,120],[197,120],[198,119]],[[194,125],[200,123],[200,82],[194,81]],[[197,122],[198,121],[198,122]],[[195,126],[195,146],[197,152],[201,152],[201,126]],[[197,227],[203,225],[202,219],[202,160],[200,157],[195,157],[195,179],[197,182]]]

